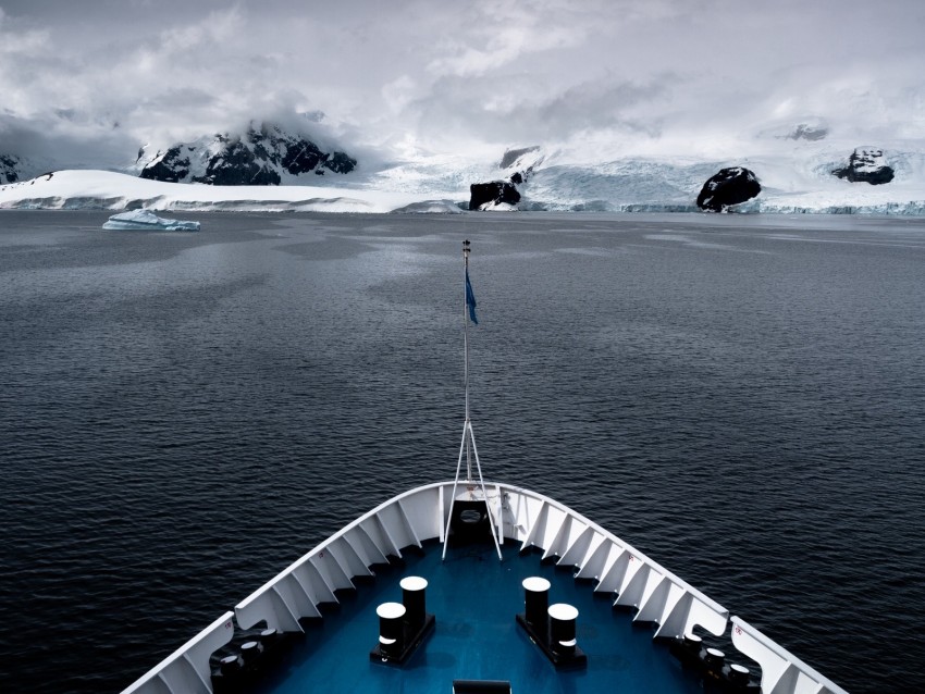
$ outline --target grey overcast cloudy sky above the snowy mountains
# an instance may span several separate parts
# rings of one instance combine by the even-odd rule
[[[395,152],[921,139],[923,28],[922,0],[0,0],[0,153],[297,112]]]

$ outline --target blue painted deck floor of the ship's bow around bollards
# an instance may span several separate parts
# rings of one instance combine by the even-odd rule
[[[589,583],[577,583],[571,571],[542,565],[538,554],[519,556],[514,545],[504,547],[503,562],[493,546],[451,547],[446,561],[441,549],[432,544],[423,555],[408,553],[404,566],[360,584],[323,624],[308,629],[260,691],[449,694],[455,679],[485,679],[510,681],[515,694],[703,692],[668,648],[653,642],[648,625],[633,624],[628,612],[595,596]],[[436,630],[403,668],[371,662],[379,634],[375,607],[402,600],[398,581],[406,575],[428,580],[427,610],[435,615]],[[557,671],[517,625],[521,581],[530,575],[552,583],[551,604],[578,608],[578,645],[588,655],[587,669]]]

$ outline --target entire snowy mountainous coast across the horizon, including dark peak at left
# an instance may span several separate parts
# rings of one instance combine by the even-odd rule
[[[126,185],[124,175],[89,172],[84,174],[86,185],[78,173],[59,172],[53,181],[34,182],[21,174],[17,183],[0,186],[0,207],[447,211],[469,209],[473,184],[501,184],[495,188],[502,193],[516,189],[516,203],[484,209],[696,212],[698,194],[707,179],[724,169],[741,168],[754,173],[761,191],[729,211],[925,214],[925,141],[884,137],[861,144],[855,134],[839,132],[821,119],[799,119],[729,140],[714,136],[625,153],[596,144],[580,152],[564,145],[532,145],[461,153],[411,151],[392,159],[361,150],[358,165],[333,147],[263,126],[240,137],[145,149],[134,166],[123,170],[152,178],[136,178],[137,185]],[[853,173],[843,175],[846,168]],[[887,170],[891,178],[879,175],[878,185],[872,185],[866,174]],[[332,175],[346,171],[348,175]],[[286,185],[274,187],[271,197],[256,193],[252,184],[276,183],[276,176]],[[162,183],[168,181],[213,185]],[[226,187],[242,184],[250,185],[234,193]]]

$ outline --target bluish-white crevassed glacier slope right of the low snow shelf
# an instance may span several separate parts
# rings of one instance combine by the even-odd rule
[[[809,126],[794,132],[797,136],[758,141],[753,153],[736,158],[636,157],[588,163],[560,151],[531,152],[531,163],[536,163],[528,181],[518,186],[519,209],[698,211],[695,200],[707,178],[727,166],[747,166],[757,175],[762,193],[739,206],[739,211],[925,213],[925,147],[921,144],[884,148],[896,177],[873,186],[831,173],[847,163],[853,147],[821,141],[818,131]],[[506,178],[515,169],[502,168],[497,161],[433,157],[384,169],[357,185],[464,201],[469,184]]]

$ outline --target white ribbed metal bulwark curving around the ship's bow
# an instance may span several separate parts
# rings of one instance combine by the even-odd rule
[[[446,537],[453,487],[453,481],[421,486],[358,518],[242,600],[234,609],[237,625],[266,621],[270,629],[300,632],[300,618],[321,616],[318,605],[336,602],[334,591],[370,575],[373,563]],[[724,607],[600,525],[542,494],[492,482],[485,487],[505,542],[536,547],[544,558],[575,567],[577,579],[593,579],[594,591],[613,594],[615,605],[636,607],[636,621],[657,624],[655,636],[680,639],[694,628],[717,636],[726,632],[730,617]],[[223,615],[125,694],[211,693],[209,656],[231,640],[231,617]],[[731,622],[732,644],[762,667],[762,692],[846,694],[741,619]]]

